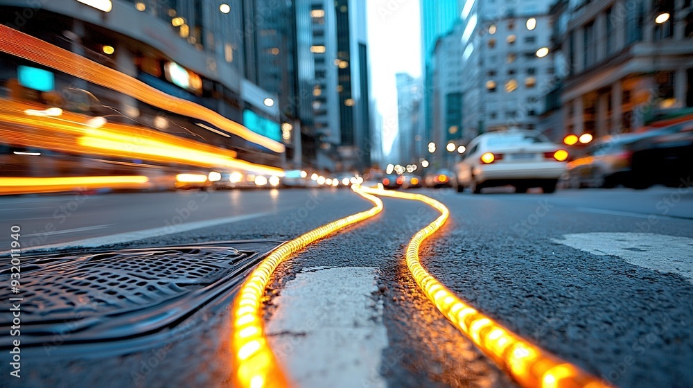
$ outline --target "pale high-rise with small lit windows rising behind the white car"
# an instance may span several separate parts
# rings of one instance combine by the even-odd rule
[[[455,67],[461,71],[455,80],[448,80],[461,85],[461,96],[455,91],[453,96],[446,97],[450,98],[446,103],[462,103],[464,141],[490,130],[537,127],[538,114],[544,109],[543,96],[554,86],[556,71],[543,52],[550,46],[552,35],[551,3],[464,3],[453,39],[459,44],[456,53],[460,60]]]

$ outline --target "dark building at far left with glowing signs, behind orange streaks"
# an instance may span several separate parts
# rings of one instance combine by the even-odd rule
[[[95,85],[87,82],[86,73],[70,75],[69,69],[44,71],[53,80],[51,90],[44,93],[58,94],[52,100],[64,110],[94,114],[112,107],[120,113],[110,112],[107,121],[143,125],[227,148],[239,159],[284,166],[286,145],[281,139],[278,95],[258,85],[259,77],[253,73],[258,62],[245,57],[252,52],[248,45],[255,42],[245,39],[240,1],[225,3],[228,8],[211,0],[104,3],[111,7],[55,0],[37,1],[26,8],[26,1],[1,0],[0,22],[53,45],[56,51],[67,49],[113,69],[123,79],[134,78],[197,108],[188,110],[190,114],[173,112],[176,103],[145,103],[141,97],[135,98],[132,89]],[[31,17],[17,17],[22,10],[31,10]],[[21,85],[21,69],[44,67],[11,55],[3,55],[1,62],[2,83],[19,79],[23,91],[31,91],[35,85]],[[208,112],[214,119],[202,120],[199,112]],[[234,133],[240,125],[246,128]],[[261,136],[239,135],[247,130]]]

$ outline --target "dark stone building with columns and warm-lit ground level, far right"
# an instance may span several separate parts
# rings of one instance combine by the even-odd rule
[[[631,132],[693,106],[690,1],[559,1],[552,55],[567,75],[552,101],[556,137]],[[671,113],[671,112],[669,112]]]

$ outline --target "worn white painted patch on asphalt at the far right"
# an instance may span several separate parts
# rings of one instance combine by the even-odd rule
[[[693,238],[653,233],[575,233],[555,243],[596,255],[613,255],[633,265],[680,274],[693,283]]]

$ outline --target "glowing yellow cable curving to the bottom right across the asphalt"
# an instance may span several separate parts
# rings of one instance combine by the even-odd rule
[[[444,204],[421,194],[365,187],[356,192],[421,201],[440,211],[441,215],[416,233],[407,246],[407,267],[421,290],[448,321],[520,385],[541,388],[609,387],[602,380],[569,362],[556,358],[478,312],[455,296],[454,292],[448,290],[423,268],[419,258],[419,248],[423,240],[432,236],[448,219],[450,211]]]

